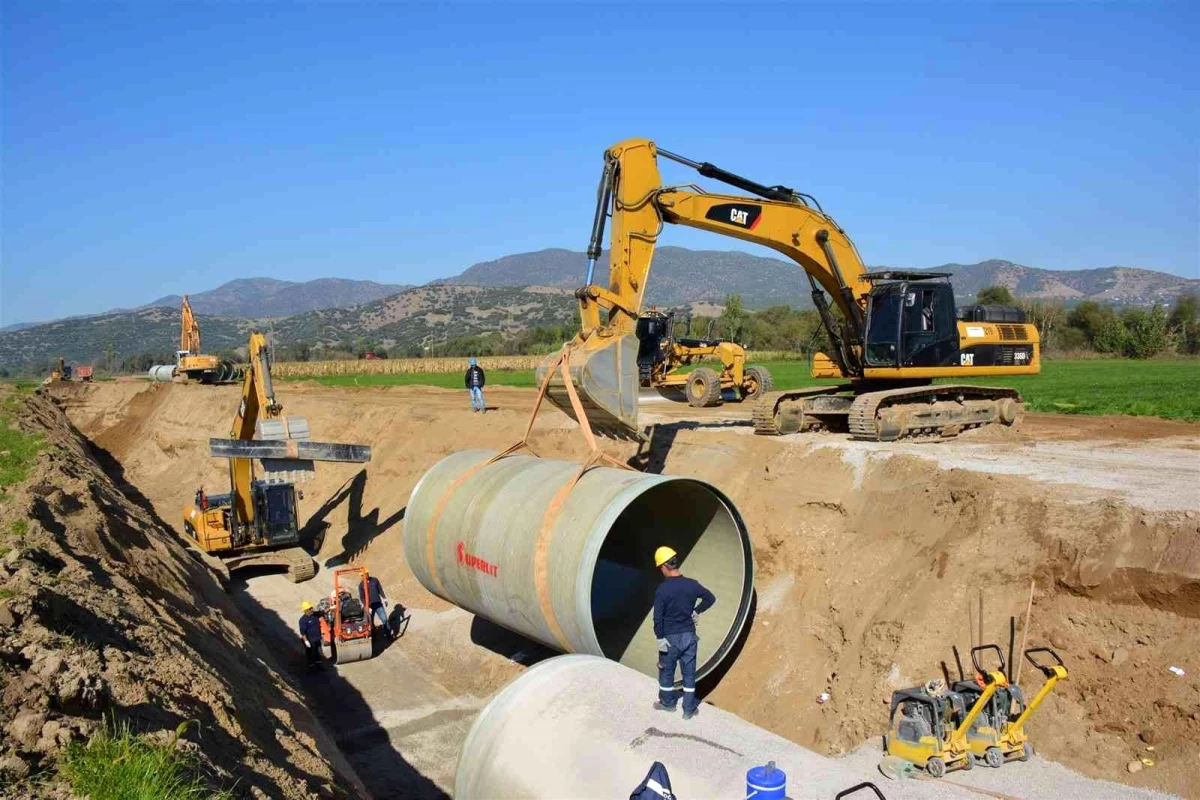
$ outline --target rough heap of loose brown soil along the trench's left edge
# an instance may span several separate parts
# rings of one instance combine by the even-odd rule
[[[188,728],[180,746],[239,795],[353,796],[358,783],[214,576],[122,491],[62,413],[22,398],[44,449],[0,505],[0,766],[56,792],[55,758],[109,718]],[[337,763],[335,768],[330,757]],[[341,772],[341,774],[340,774]]]

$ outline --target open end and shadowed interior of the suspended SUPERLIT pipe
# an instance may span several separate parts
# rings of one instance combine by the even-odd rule
[[[685,576],[716,595],[716,604],[698,626],[696,666],[702,675],[737,637],[750,595],[745,534],[703,483],[679,480],[653,486],[613,523],[592,575],[596,639],[606,657],[654,674],[654,590],[665,579],[654,566],[654,549],[662,545],[679,554]]]

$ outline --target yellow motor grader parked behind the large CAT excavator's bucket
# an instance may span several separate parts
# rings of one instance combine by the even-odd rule
[[[714,338],[713,326],[703,338],[676,336],[674,312],[656,308],[637,320],[637,371],[643,387],[682,391],[688,403],[697,408],[720,405],[722,390],[732,390],[739,401],[755,401],[770,391],[770,373],[766,367],[746,366],[746,351],[737,342]],[[703,359],[716,359],[721,372],[696,367],[680,369]]]

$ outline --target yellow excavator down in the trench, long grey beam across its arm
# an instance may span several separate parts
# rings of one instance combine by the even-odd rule
[[[230,492],[210,495],[202,487],[184,509],[184,530],[194,545],[217,557],[224,572],[282,566],[293,583],[313,577],[316,564],[300,541],[295,483],[312,475],[316,461],[366,463],[371,447],[310,441],[307,420],[283,416],[270,349],[258,331],[250,335],[250,367],[229,438],[210,439],[209,452],[229,459]]]

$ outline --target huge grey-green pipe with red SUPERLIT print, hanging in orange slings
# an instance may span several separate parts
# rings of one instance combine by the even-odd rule
[[[732,649],[750,609],[750,537],[703,481],[598,468],[557,498],[578,464],[457,452],[421,477],[404,513],[404,555],[456,606],[566,652],[658,674],[654,548],[716,595],[700,618],[697,674]]]

